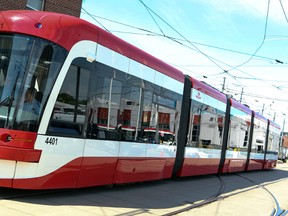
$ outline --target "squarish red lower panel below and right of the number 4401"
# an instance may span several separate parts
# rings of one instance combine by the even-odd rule
[[[116,164],[117,158],[83,158],[78,187],[113,184]]]

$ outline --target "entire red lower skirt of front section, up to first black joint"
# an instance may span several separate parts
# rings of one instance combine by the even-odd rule
[[[82,166],[81,166],[82,164]],[[170,178],[174,158],[78,158],[38,178],[0,180],[0,186],[22,189],[79,188]]]

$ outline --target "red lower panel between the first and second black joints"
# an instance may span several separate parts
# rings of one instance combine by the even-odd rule
[[[185,158],[178,176],[194,176],[218,173],[219,158]]]

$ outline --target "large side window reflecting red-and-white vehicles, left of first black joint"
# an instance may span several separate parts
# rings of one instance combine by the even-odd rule
[[[87,138],[174,142],[180,95],[100,63],[90,82]]]

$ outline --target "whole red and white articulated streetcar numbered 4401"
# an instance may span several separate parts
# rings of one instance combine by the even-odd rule
[[[279,136],[275,122],[87,21],[0,12],[1,187],[271,169]]]

